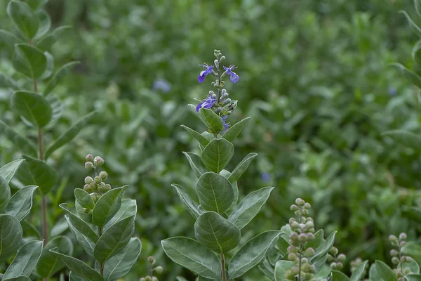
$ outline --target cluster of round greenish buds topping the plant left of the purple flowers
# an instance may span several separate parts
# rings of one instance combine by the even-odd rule
[[[95,176],[92,178],[91,176],[87,176],[85,178],[85,185],[83,186],[83,190],[89,193],[91,195],[93,202],[97,202],[101,195],[103,195],[108,190],[111,190],[111,185],[108,183],[105,183],[105,180],[108,177],[108,174],[106,171],[101,171],[100,174],[98,174],[98,167],[102,166],[104,164],[104,159],[100,156],[95,156],[88,154],[85,157],[86,163],[85,168],[90,170],[95,170]],[[83,210],[87,213],[90,210]]]

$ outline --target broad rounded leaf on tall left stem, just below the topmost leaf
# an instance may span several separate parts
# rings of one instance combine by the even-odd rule
[[[47,58],[44,53],[28,44],[15,44],[13,67],[30,79],[38,79],[47,69]]]

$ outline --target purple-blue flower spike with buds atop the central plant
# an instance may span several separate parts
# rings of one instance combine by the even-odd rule
[[[225,59],[225,56],[219,50],[214,51],[214,55],[216,59],[214,60],[214,65],[207,65],[203,63],[203,65],[199,65],[204,67],[205,70],[201,71],[198,77],[200,83],[205,81],[205,78],[208,74],[213,74],[216,77],[216,80],[212,82],[212,86],[218,89],[218,92],[215,93],[214,91],[209,91],[208,96],[200,100],[199,104],[196,106],[196,111],[199,112],[201,108],[211,109],[215,113],[217,113],[223,121],[224,124],[224,132],[229,129],[229,123],[226,122],[228,115],[232,114],[232,111],[236,107],[236,103],[234,103],[231,98],[229,98],[229,93],[226,89],[223,88],[225,85],[225,81],[222,78],[225,75],[229,76],[229,79],[236,83],[239,81],[240,77],[237,75],[233,70],[236,70],[235,65],[230,65],[229,67],[223,66],[224,72],[222,72],[220,68],[220,63],[222,60]],[[216,71],[214,70],[214,67]],[[222,72],[222,73],[221,73]]]

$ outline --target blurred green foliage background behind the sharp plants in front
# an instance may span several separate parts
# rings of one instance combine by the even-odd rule
[[[7,2],[0,3],[0,25],[11,30]],[[210,79],[198,83],[196,66],[212,63],[218,48],[227,65],[239,67],[239,83],[227,83],[239,100],[229,121],[253,117],[227,168],[258,152],[239,182],[241,195],[276,188],[244,229],[244,240],[281,228],[290,204],[302,197],[312,204],[316,228],[338,230],[335,245],[348,261],[389,260],[389,234],[407,231],[415,239],[421,231],[405,212],[421,206],[420,157],[381,135],[389,129],[421,133],[415,86],[388,65],[413,64],[417,38],[399,10],[414,15],[413,1],[50,0],[53,25],[73,27],[53,46],[56,65],[81,64],[55,89],[65,110],[46,141],[88,112],[100,112],[49,160],[60,172],[50,198],[51,225],[63,226],[58,203],[71,202],[73,189],[83,186],[84,156],[100,155],[110,183],[129,184],[128,195],[138,201],[136,235],[143,249],[126,280],[146,274],[151,254],[164,267],[160,280],[194,280],[166,258],[160,240],[194,237],[194,221],[171,183],[194,190],[182,151],[199,148],[180,124],[204,130],[187,103],[212,89]],[[0,54],[0,71],[17,77],[12,54],[5,48]],[[8,109],[10,95],[0,89],[1,119],[36,139]],[[0,162],[19,157],[13,151],[0,136]],[[248,280],[260,277],[255,270]]]

